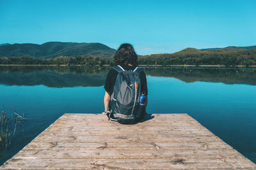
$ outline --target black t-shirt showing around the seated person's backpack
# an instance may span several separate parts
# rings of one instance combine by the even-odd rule
[[[129,71],[129,70],[134,70],[137,66],[121,65],[121,67]],[[118,71],[116,71],[115,69],[111,69],[106,78],[104,89],[106,90],[106,92],[108,92],[110,96],[113,93],[117,74],[118,74]],[[147,78],[144,71],[141,71],[140,73],[140,81],[141,81],[141,92],[143,92],[147,96],[148,95]]]

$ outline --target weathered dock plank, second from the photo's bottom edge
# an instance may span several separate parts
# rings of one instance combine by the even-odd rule
[[[21,150],[16,154],[16,158],[42,158],[42,159],[58,159],[58,158],[111,158],[111,159],[143,159],[147,158],[166,158],[166,157],[188,157],[188,158],[214,158],[226,155],[233,157],[236,153],[234,149],[215,149],[215,150],[199,150],[199,149],[156,149],[156,150],[141,150],[140,148],[131,148],[131,150],[122,149],[86,149],[83,150]]]

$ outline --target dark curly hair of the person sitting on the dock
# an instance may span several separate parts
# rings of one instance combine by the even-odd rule
[[[134,52],[132,45],[127,43],[119,46],[113,58],[115,65],[137,65],[138,62],[138,55],[136,54],[136,52]]]

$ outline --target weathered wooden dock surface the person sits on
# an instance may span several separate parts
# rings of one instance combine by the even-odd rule
[[[0,169],[256,169],[187,114],[135,125],[65,114]]]

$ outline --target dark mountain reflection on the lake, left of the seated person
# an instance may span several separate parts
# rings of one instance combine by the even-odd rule
[[[2,66],[0,83],[47,87],[99,87],[104,84],[108,69],[108,67]]]

